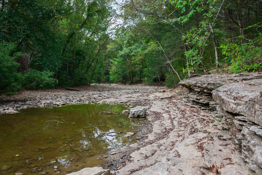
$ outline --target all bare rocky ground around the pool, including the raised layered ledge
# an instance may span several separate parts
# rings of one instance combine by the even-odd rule
[[[117,149],[102,166],[111,171],[95,168],[101,174],[261,175],[262,73],[204,75],[180,85],[24,91],[1,96],[0,112],[77,103],[149,106],[143,140]]]

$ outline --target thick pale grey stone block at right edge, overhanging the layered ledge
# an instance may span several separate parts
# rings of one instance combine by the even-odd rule
[[[224,85],[213,90],[212,96],[225,111],[262,125],[262,78]]]

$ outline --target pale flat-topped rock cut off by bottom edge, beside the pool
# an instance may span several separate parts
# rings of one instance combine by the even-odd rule
[[[115,175],[109,169],[104,170],[102,167],[84,168],[78,172],[70,173],[67,175]]]

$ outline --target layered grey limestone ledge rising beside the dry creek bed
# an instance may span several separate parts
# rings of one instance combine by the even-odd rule
[[[262,175],[262,73],[213,74],[181,81],[188,99],[220,114],[248,168]]]

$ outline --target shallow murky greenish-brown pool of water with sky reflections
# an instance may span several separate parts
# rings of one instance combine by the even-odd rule
[[[136,126],[127,115],[99,112],[125,109],[124,105],[85,104],[0,115],[0,173],[64,175],[101,165],[110,157],[109,146],[130,144],[131,139],[123,134],[134,132]]]

